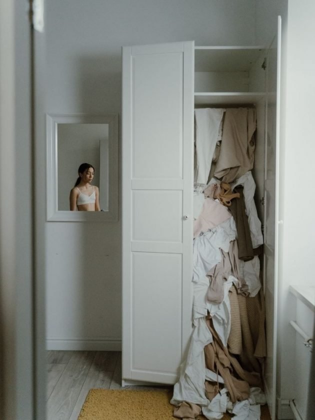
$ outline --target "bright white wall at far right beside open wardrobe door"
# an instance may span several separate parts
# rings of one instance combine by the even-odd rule
[[[294,398],[294,343],[295,332],[289,320],[295,317],[295,298],[289,293],[289,284],[313,284],[313,242],[315,218],[312,209],[314,194],[309,194],[314,174],[313,111],[315,96],[315,33],[313,0],[256,2],[256,39],[266,41],[275,27],[276,14],[282,16],[281,60],[281,167],[280,167],[280,225],[279,236],[279,307],[277,349],[278,418],[292,418],[285,400]],[[313,189],[312,186],[310,187]],[[298,191],[297,194],[294,191]],[[313,353],[314,356],[314,353]],[[314,370],[314,358],[312,369]],[[309,395],[313,388],[309,386]],[[303,392],[307,392],[304,389]],[[281,406],[282,402],[282,406]],[[309,417],[313,409],[309,399]],[[312,401],[312,404],[314,402]],[[291,415],[290,415],[291,414]]]

